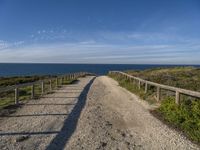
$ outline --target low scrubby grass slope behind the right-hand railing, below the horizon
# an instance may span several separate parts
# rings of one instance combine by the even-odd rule
[[[200,91],[200,69],[194,67],[155,68],[145,71],[127,71],[145,80]]]

